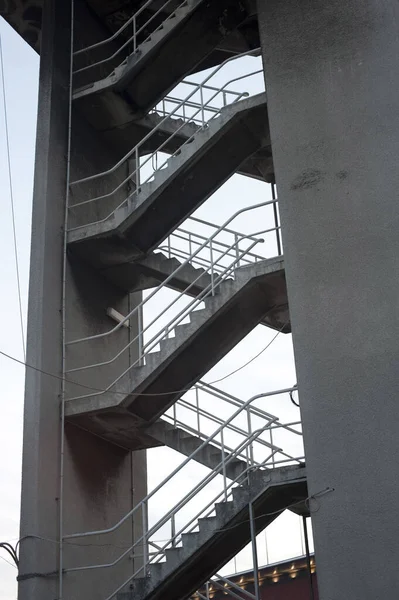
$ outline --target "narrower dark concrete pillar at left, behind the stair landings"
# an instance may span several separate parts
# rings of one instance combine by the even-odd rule
[[[60,565],[60,527],[65,535],[113,526],[146,493],[145,454],[129,452],[66,423],[62,427],[63,260],[71,2],[44,2],[39,114],[33,199],[31,273],[21,506],[19,600],[103,600],[137,568],[140,558],[127,555],[112,569],[69,571],[73,567],[116,560],[141,535],[141,514],[110,536],[69,540]],[[75,2],[78,8],[79,1]],[[71,173],[83,176],[104,168],[114,157],[77,115],[72,119]],[[74,257],[66,268],[65,337],[73,340],[107,331],[112,306],[127,312],[137,299],[117,289]],[[134,305],[134,304],[133,304]],[[131,323],[134,332],[137,323]],[[123,328],[108,345],[116,352],[131,331]],[[133,333],[134,335],[134,333]],[[99,361],[104,348],[85,347]],[[116,377],[134,358],[124,357],[107,373]],[[66,368],[79,361],[67,350]],[[81,363],[79,363],[81,364]],[[52,374],[52,375],[48,375]],[[106,386],[92,373],[86,385]],[[76,378],[78,380],[78,378]],[[66,385],[66,395],[70,392]],[[87,388],[74,386],[76,393]],[[61,441],[63,469],[61,469]],[[61,506],[62,505],[62,506]],[[62,507],[62,514],[61,514]],[[63,596],[59,587],[62,566]]]

